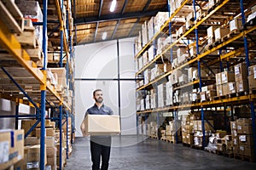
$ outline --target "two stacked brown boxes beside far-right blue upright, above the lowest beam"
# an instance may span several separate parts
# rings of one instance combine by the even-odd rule
[[[236,92],[247,92],[248,79],[247,79],[247,66],[245,63],[235,65],[235,80],[236,80]]]

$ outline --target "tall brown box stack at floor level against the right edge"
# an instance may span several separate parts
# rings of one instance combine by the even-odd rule
[[[243,156],[253,161],[255,153],[253,153],[252,120],[246,118],[237,119],[236,122],[230,122],[230,128],[234,155]]]

